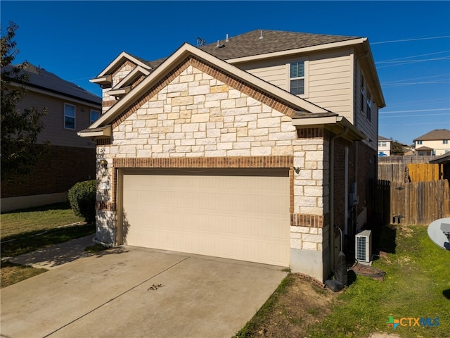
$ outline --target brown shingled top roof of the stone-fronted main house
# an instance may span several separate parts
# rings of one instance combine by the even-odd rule
[[[229,37],[228,42],[226,39],[223,39],[219,40],[219,42],[199,46],[199,48],[217,58],[227,60],[352,39],[360,39],[360,37],[285,32],[281,30],[252,30],[235,37]]]

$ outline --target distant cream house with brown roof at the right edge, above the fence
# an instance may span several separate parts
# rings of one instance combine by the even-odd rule
[[[443,155],[450,151],[450,130],[435,129],[414,139],[416,155]]]

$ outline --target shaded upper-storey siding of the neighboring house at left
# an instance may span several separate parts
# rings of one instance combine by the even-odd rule
[[[64,104],[75,106],[75,130],[64,128]],[[39,134],[37,142],[42,143],[50,141],[53,146],[77,146],[82,148],[95,148],[96,143],[91,139],[79,137],[77,131],[86,129],[90,124],[91,109],[101,111],[100,106],[87,106],[78,104],[70,99],[64,100],[53,96],[39,94],[36,92],[27,92],[25,99],[20,101],[17,108],[37,107],[41,110],[47,108],[47,114],[44,116],[44,130]]]

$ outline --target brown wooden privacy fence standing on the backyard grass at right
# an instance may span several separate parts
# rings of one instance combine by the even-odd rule
[[[447,180],[410,183],[378,180],[377,197],[379,220],[384,224],[428,225],[450,216]]]

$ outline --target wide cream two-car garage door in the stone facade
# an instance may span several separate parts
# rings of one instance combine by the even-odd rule
[[[288,170],[125,170],[124,242],[288,266]]]

